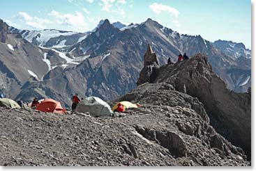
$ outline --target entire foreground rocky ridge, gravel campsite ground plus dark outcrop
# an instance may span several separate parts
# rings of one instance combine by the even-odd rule
[[[0,108],[0,165],[250,165],[250,93],[227,90],[202,55],[145,67],[110,101],[142,106],[112,117]]]

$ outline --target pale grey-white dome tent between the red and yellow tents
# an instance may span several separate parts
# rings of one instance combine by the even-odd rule
[[[110,105],[98,97],[86,97],[80,101],[75,111],[80,113],[89,112],[91,116],[112,116]]]

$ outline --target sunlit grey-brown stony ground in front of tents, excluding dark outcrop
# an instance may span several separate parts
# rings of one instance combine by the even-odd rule
[[[114,117],[0,108],[0,165],[250,164],[211,127],[196,98],[170,85],[141,89],[151,95],[142,108]]]

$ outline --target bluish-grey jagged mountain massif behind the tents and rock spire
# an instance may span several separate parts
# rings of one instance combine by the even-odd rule
[[[78,93],[81,97],[94,95],[114,99],[136,87],[148,44],[151,44],[158,55],[160,65],[167,63],[169,57],[176,62],[179,53],[187,52],[188,56],[203,53],[209,56],[213,72],[225,81],[229,89],[245,92],[250,87],[249,59],[227,56],[199,35],[180,35],[152,19],[122,29],[115,28],[106,19],[100,22],[94,32],[86,35],[84,40],[71,46],[60,49],[40,48],[44,52],[43,60],[50,70],[40,76],[42,81],[36,85],[44,88],[49,86],[52,92],[56,92],[54,94],[58,94],[52,98],[57,98],[66,105],[70,105],[73,93]],[[59,88],[59,83],[63,83],[63,88]],[[29,85],[28,82],[22,88],[22,95],[26,94]],[[31,92],[38,89],[37,86],[31,88]],[[43,94],[47,97],[45,92]],[[24,100],[26,98],[23,97]]]

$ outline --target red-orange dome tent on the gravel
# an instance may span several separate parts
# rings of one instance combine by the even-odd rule
[[[36,107],[36,110],[47,113],[66,114],[66,109],[62,108],[61,103],[54,99],[45,99],[41,101]]]

